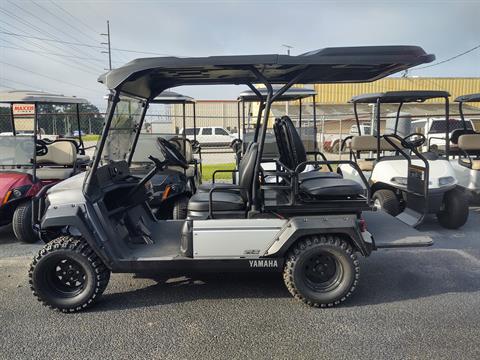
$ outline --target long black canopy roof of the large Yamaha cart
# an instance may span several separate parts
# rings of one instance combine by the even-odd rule
[[[287,83],[299,74],[298,82],[305,84],[367,82],[434,59],[417,46],[325,48],[298,56],[158,57],[133,60],[98,80],[110,90],[152,99],[181,85],[262,82],[253,68],[271,84]]]

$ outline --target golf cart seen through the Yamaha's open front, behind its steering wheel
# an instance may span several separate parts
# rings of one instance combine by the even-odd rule
[[[150,104],[181,104],[183,108],[183,129],[186,128],[185,106],[192,105],[193,108],[193,129],[196,129],[195,121],[195,100],[189,96],[181,95],[173,91],[164,91]],[[148,115],[148,110],[147,114]],[[159,138],[170,141],[180,151],[188,167],[184,169],[179,166],[165,166],[164,171],[158,172],[150,180],[153,187],[153,197],[150,206],[154,209],[155,215],[160,219],[185,219],[187,216],[188,199],[194,194],[202,182],[201,175],[201,149],[196,140],[195,131],[193,139],[187,138],[185,132],[172,134],[169,132],[141,132],[136,140],[135,151],[131,152],[129,160],[130,172],[138,177],[145,176],[153,167],[154,162],[149,159],[150,155],[163,159],[161,154]],[[195,158],[198,154],[199,159]]]

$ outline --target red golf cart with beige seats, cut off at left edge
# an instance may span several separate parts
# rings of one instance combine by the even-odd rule
[[[0,106],[8,110],[2,115],[2,130],[8,131],[0,136],[0,225],[12,223],[22,242],[38,240],[32,228],[32,199],[88,164],[80,131],[80,104],[87,101],[41,91],[0,93]],[[62,125],[66,133],[78,127],[78,138],[45,135],[44,128],[52,125],[45,109],[52,111],[52,106],[75,107],[75,114],[70,115],[73,124],[65,119]]]

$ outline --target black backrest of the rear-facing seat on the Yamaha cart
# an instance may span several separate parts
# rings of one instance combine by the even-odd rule
[[[288,116],[282,116],[280,122],[281,137],[282,140],[285,139],[283,141],[287,149],[286,157],[288,157],[285,165],[289,166],[291,170],[295,170],[298,165],[307,161],[307,153],[292,120]],[[302,172],[304,169],[305,166],[302,166],[299,172]]]

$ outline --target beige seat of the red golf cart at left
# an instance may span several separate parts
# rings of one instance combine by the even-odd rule
[[[48,152],[37,156],[37,177],[41,180],[63,180],[72,176],[77,161],[77,149],[71,141],[55,141],[47,145]]]

